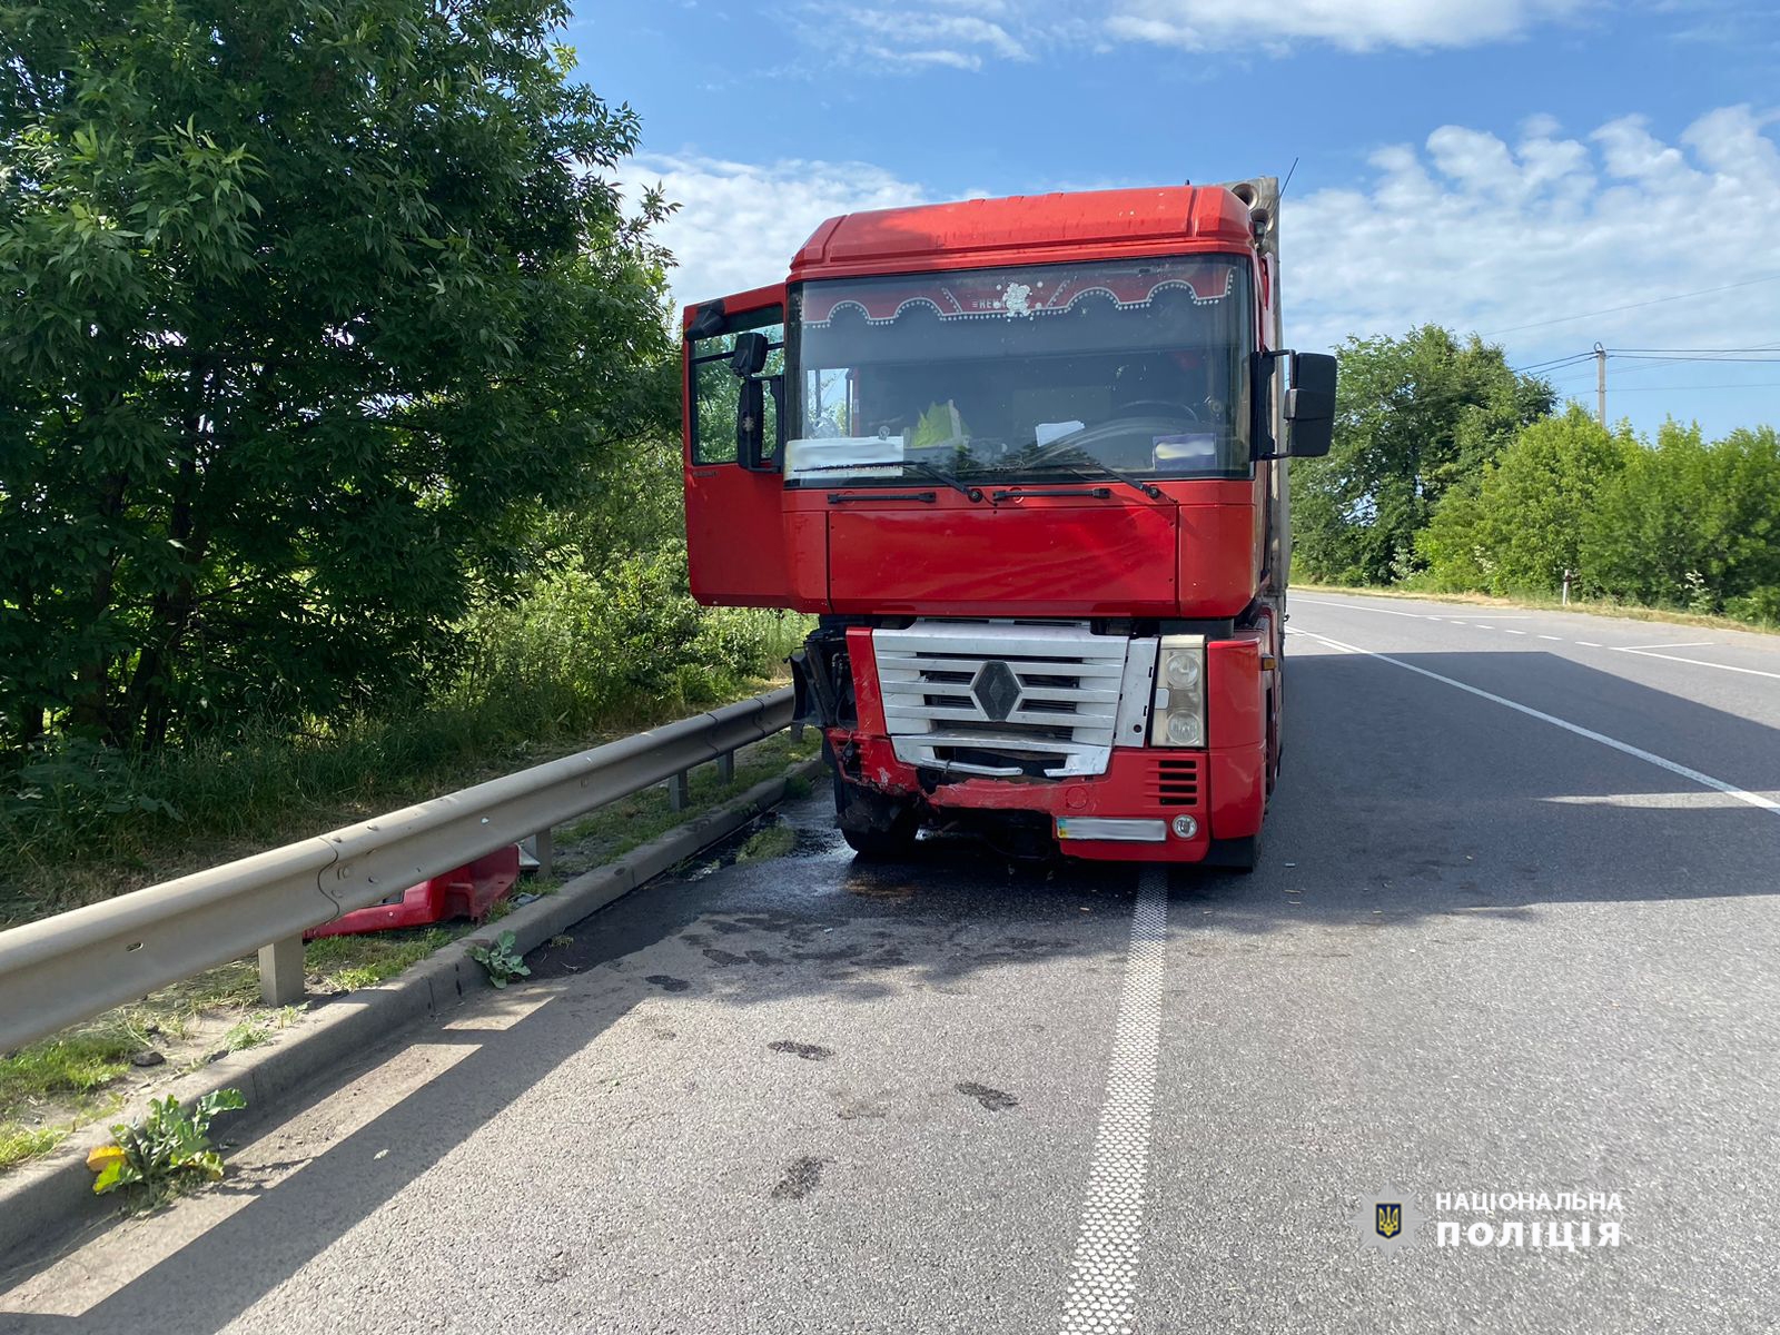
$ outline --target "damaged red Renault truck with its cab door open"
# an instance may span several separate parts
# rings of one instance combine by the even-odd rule
[[[685,312],[692,595],[819,621],[796,666],[862,854],[1251,869],[1280,762],[1287,459],[1335,360],[1280,349],[1278,183],[829,219]]]

